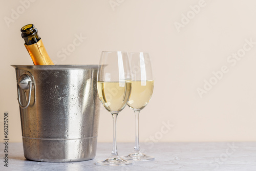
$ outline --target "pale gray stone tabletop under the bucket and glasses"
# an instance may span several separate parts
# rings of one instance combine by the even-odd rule
[[[106,167],[95,162],[109,157],[112,143],[98,143],[95,159],[80,162],[35,162],[26,160],[22,143],[9,143],[8,167],[4,166],[4,144],[0,145],[0,170],[256,170],[256,142],[168,142],[141,144],[154,161],[132,166]],[[117,143],[120,156],[130,153],[133,143]]]

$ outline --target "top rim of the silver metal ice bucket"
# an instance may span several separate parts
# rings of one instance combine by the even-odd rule
[[[65,70],[65,69],[98,69],[98,65],[11,65],[15,69]]]

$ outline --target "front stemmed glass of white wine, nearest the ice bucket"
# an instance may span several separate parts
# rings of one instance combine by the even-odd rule
[[[133,164],[118,156],[116,146],[116,118],[130,97],[131,66],[126,52],[102,52],[100,57],[97,89],[101,103],[113,117],[113,150],[109,158],[97,165],[124,166]]]

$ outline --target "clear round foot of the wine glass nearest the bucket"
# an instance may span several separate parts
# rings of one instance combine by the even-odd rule
[[[100,166],[126,166],[134,163],[133,161],[124,160],[120,157],[111,157],[103,161],[97,161],[95,164]]]

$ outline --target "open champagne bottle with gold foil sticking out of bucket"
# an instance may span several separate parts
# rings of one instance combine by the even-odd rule
[[[38,31],[33,24],[26,25],[20,29],[25,47],[33,60],[34,65],[54,65],[49,57]]]

